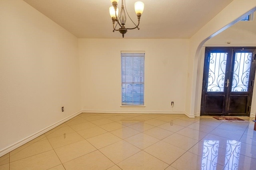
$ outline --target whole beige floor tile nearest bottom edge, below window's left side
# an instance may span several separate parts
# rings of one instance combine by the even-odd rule
[[[100,149],[100,152],[102,152],[115,164],[140,151],[141,149],[138,149],[137,147],[134,147],[134,145],[131,145],[123,140]]]

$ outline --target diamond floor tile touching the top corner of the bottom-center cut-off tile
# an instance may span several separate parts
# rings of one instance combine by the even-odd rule
[[[134,145],[140,149],[145,149],[145,148],[149,147],[150,145],[157,143],[159,141],[159,139],[156,139],[150,135],[146,135],[145,133],[139,133],[132,137],[126,138],[125,141],[131,143],[132,145]]]

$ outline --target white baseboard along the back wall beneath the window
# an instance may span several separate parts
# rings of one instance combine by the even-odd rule
[[[112,110],[82,110],[82,113],[128,113],[128,114],[185,114],[182,111],[112,111]]]

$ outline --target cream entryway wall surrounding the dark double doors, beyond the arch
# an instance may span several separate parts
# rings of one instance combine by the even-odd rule
[[[256,17],[256,14],[254,14]],[[256,18],[255,18],[256,19]],[[204,47],[256,47],[256,30],[248,31],[255,27],[255,21],[239,21],[232,25],[228,29],[219,33],[215,37],[212,37],[205,42]],[[230,44],[227,44],[227,42]],[[202,94],[202,78],[204,69],[204,47],[202,47],[199,59],[198,59],[198,70],[197,70],[197,100],[196,100],[196,113],[200,114],[200,103]],[[200,97],[199,97],[200,96]],[[256,113],[256,89],[254,88],[251,105],[251,117],[255,117]]]

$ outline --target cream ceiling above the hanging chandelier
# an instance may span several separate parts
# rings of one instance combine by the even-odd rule
[[[122,38],[112,32],[110,0],[24,0],[78,38]],[[137,23],[134,3],[126,0]],[[141,0],[144,12],[140,30],[128,30],[124,38],[190,38],[232,0]],[[118,3],[120,8],[121,0]],[[126,27],[133,27],[126,22]]]

